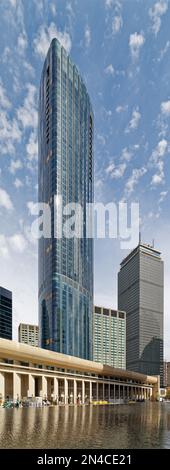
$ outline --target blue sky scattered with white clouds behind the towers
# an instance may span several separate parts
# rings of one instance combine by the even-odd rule
[[[70,53],[95,115],[95,198],[140,204],[142,240],[165,260],[170,360],[170,4],[167,0],[0,1],[0,285],[14,297],[14,333],[37,321],[37,104],[53,37]],[[95,246],[95,300],[117,306],[119,241]]]

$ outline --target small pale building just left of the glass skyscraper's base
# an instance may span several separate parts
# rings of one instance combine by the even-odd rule
[[[39,346],[39,327],[38,325],[29,325],[20,323],[18,327],[18,341],[30,346]]]

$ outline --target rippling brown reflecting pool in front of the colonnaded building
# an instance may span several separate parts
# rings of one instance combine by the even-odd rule
[[[170,404],[0,409],[0,448],[170,448]]]

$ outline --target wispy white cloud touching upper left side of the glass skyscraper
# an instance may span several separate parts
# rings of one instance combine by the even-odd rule
[[[23,128],[33,127],[37,128],[38,124],[38,113],[36,108],[36,93],[37,89],[31,83],[26,86],[28,92],[24,99],[23,106],[20,106],[17,110],[18,120],[21,121]]]

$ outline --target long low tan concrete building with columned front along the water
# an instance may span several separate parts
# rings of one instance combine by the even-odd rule
[[[0,397],[40,396],[56,403],[156,397],[159,377],[0,340]]]

